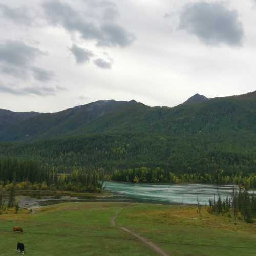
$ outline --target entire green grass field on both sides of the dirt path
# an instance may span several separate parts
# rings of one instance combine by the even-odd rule
[[[110,224],[115,212],[116,226]],[[20,226],[24,234],[13,233]],[[148,238],[169,255],[256,255],[256,224],[210,215],[194,206],[125,203],[65,203],[36,214],[0,215],[0,255],[156,255],[144,243],[119,229]],[[253,249],[254,247],[254,249]]]

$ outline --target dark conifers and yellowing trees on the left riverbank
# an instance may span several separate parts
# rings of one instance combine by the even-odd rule
[[[0,159],[0,188],[7,191],[13,186],[30,190],[94,191],[103,189],[103,169],[69,168],[60,173],[58,167],[32,160]]]

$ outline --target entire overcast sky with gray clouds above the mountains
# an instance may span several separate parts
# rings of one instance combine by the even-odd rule
[[[0,1],[0,108],[255,91],[256,0]]]

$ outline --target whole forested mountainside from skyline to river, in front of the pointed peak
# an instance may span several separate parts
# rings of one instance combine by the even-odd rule
[[[99,101],[30,118],[0,138],[12,138],[0,144],[0,156],[36,160],[60,173],[103,168],[120,181],[231,184],[238,177],[245,184],[256,173],[256,92],[175,108]],[[144,179],[136,174],[142,167],[166,175]],[[133,178],[121,174],[129,169]]]

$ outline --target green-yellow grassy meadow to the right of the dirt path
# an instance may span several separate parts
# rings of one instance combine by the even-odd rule
[[[256,254],[255,224],[234,226],[229,218],[210,215],[205,209],[200,218],[194,206],[180,210],[180,206],[138,205],[125,209],[117,224],[149,238],[170,255]]]

